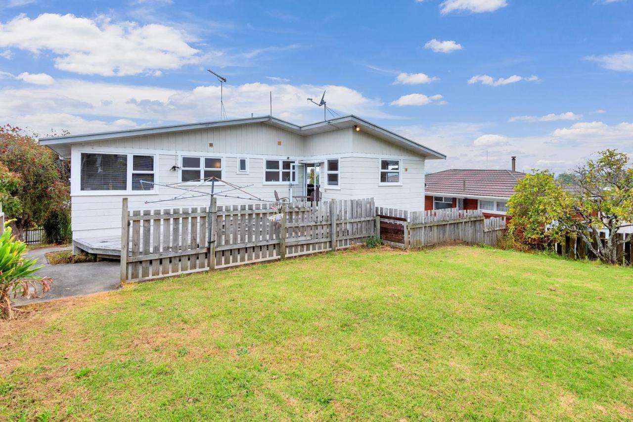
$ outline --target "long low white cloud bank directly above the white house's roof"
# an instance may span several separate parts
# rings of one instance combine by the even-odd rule
[[[225,84],[224,104],[229,118],[249,117],[251,113],[267,115],[272,91],[276,117],[307,124],[321,120],[323,109],[308,103],[306,98],[320,98],[324,89],[328,104],[341,114],[394,117],[380,110],[383,103],[379,99],[367,98],[345,86]],[[150,125],[216,120],[219,105],[220,86],[185,90],[62,79],[46,87],[0,89],[1,123],[28,125],[43,133],[51,127],[73,127],[73,133],[95,132],[122,118]],[[55,124],[56,115],[66,117]],[[42,116],[47,117],[40,119]]]

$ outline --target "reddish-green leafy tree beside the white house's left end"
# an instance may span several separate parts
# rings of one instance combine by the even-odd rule
[[[42,224],[68,202],[64,165],[53,150],[10,125],[0,127],[0,163],[20,178],[8,189],[12,200],[3,201],[3,208],[13,219],[13,233],[23,239],[25,229]]]

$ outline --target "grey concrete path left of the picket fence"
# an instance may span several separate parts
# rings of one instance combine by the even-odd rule
[[[116,290],[119,283],[119,263],[117,261],[84,262],[82,264],[51,265],[47,262],[44,254],[58,250],[60,246],[50,246],[38,248],[28,252],[29,258],[37,258],[38,265],[44,267],[37,271],[35,275],[45,276],[53,279],[51,291],[40,298],[20,298],[16,297],[13,303],[16,306],[35,304],[37,302],[48,302],[72,296],[83,296],[100,291]],[[39,290],[38,288],[38,291]]]

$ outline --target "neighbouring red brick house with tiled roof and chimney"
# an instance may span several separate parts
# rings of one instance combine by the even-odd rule
[[[425,210],[482,210],[486,218],[505,217],[506,201],[525,173],[511,170],[452,169],[427,174]]]

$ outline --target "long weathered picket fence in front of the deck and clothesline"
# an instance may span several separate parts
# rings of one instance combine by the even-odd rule
[[[128,223],[130,224],[128,226]],[[210,271],[346,248],[375,234],[373,199],[128,210],[121,279]]]

